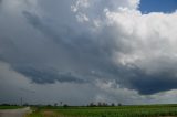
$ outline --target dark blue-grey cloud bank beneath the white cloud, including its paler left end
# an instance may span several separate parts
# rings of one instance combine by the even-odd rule
[[[119,67],[113,74],[116,74],[115,77],[119,77],[117,83],[121,86],[136,89],[142,95],[152,95],[177,88],[176,71],[149,74],[138,67]]]

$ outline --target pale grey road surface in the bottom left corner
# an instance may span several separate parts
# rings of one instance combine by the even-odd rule
[[[30,111],[30,107],[25,107],[22,109],[0,110],[0,117],[23,117],[29,111]]]

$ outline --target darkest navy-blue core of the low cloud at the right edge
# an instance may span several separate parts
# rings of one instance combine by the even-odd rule
[[[135,76],[131,77],[129,84],[133,89],[139,94],[150,95],[159,92],[177,89],[176,71],[166,71],[155,74],[145,72],[135,72]]]

